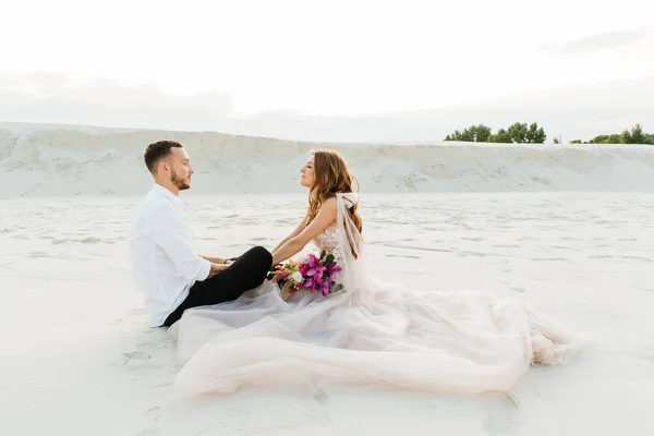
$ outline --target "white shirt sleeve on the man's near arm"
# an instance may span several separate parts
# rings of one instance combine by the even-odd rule
[[[187,280],[205,280],[211,264],[195,253],[181,214],[169,205],[157,206],[149,217],[148,233]]]

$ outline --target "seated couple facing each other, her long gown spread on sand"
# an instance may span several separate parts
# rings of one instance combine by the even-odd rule
[[[150,326],[172,326],[184,364],[175,385],[185,392],[507,391],[531,365],[561,363],[582,344],[521,300],[373,277],[354,178],[336,152],[313,152],[302,167],[310,199],[298,227],[271,251],[255,246],[231,259],[193,250],[178,198],[193,174],[184,147],[160,141],[144,157],[155,183],[132,222],[132,269]],[[289,296],[266,277],[274,265],[306,261],[293,257],[310,242],[334,256],[331,284],[342,290],[315,292],[312,275],[324,267],[304,264],[295,276],[305,287]]]

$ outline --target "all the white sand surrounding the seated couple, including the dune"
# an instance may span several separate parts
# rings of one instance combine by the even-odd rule
[[[653,147],[346,152],[361,174],[377,274],[420,289],[518,294],[595,337],[568,365],[534,368],[508,396],[246,391],[187,401],[172,393],[174,347],[147,327],[124,244],[149,187],[140,155],[164,134],[10,128],[0,130],[0,435],[654,434]],[[291,229],[311,145],[178,137],[197,141],[184,199],[201,252],[272,246]],[[412,190],[441,193],[397,193],[428,165],[443,172]],[[226,186],[233,193],[205,195]],[[472,189],[552,192],[446,192]]]

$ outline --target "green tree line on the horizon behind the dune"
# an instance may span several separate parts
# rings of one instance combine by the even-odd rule
[[[462,141],[476,143],[506,143],[506,144],[543,144],[547,135],[543,128],[537,123],[513,123],[507,129],[499,129],[493,133],[491,128],[484,124],[471,125],[463,131],[458,130],[447,135],[445,141]],[[558,137],[554,138],[555,144],[559,144]],[[571,144],[582,144],[581,140],[574,140]],[[652,144],[654,145],[654,134],[645,133],[641,124],[635,124],[631,130],[623,130],[622,133],[608,135],[598,135],[583,144]]]

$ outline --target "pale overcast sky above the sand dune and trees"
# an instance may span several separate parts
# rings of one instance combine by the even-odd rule
[[[0,120],[339,142],[654,131],[649,3],[21,0],[2,7]]]

